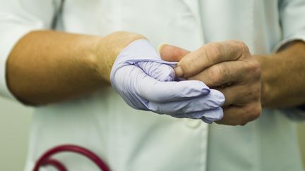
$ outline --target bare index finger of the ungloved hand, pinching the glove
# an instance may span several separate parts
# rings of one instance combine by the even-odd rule
[[[238,41],[205,44],[182,58],[175,72],[177,77],[190,77],[211,65],[243,58],[244,53],[249,55],[249,49],[246,44]]]

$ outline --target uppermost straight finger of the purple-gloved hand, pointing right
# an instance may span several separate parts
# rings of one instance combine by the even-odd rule
[[[124,66],[112,79],[114,89],[128,96],[140,96],[145,101],[170,102],[205,96],[210,89],[201,81],[160,82],[148,76],[136,65]],[[124,87],[118,87],[124,85]]]

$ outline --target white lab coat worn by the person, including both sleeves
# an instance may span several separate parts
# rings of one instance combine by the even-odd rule
[[[11,96],[4,70],[13,45],[30,30],[51,27],[59,2],[1,1],[1,94]],[[189,50],[239,39],[251,53],[270,53],[292,39],[305,39],[304,15],[304,0],[66,0],[56,29],[96,35],[125,30],[144,34],[156,47],[167,42]],[[244,127],[208,126],[133,110],[107,87],[36,108],[31,131],[25,171],[59,144],[85,146],[114,171],[302,170],[296,127],[281,110],[265,109]],[[71,153],[56,158],[70,170],[97,170]]]

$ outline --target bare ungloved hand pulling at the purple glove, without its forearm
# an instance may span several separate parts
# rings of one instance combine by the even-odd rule
[[[164,45],[160,54],[165,61],[179,61],[177,77],[201,80],[225,94],[225,116],[217,123],[246,125],[261,115],[261,64],[243,42],[214,42],[193,52]]]

